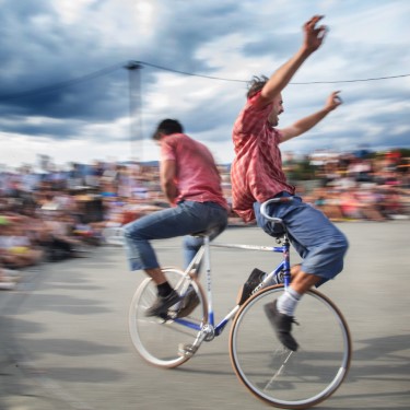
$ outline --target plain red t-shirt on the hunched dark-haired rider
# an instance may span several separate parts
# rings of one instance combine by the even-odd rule
[[[229,210],[222,194],[221,176],[211,152],[202,143],[184,133],[165,136],[161,140],[161,160],[176,162],[178,197],[195,202],[216,202]]]

